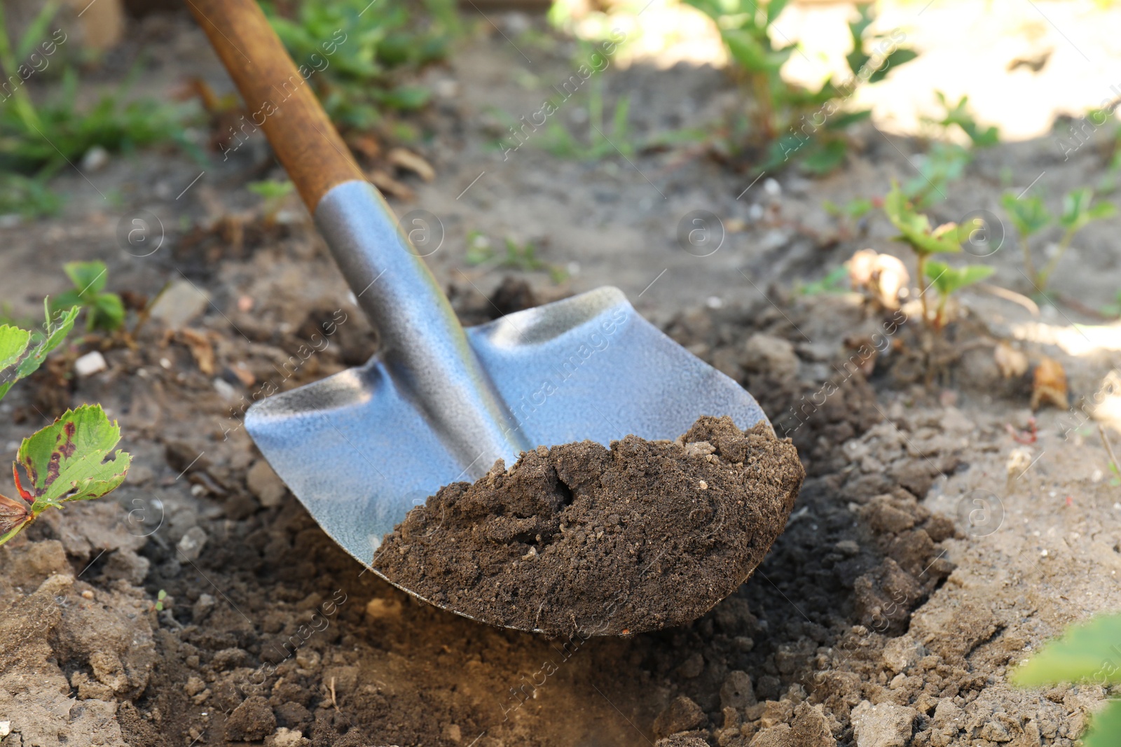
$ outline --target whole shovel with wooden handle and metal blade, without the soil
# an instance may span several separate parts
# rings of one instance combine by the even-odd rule
[[[629,433],[674,439],[702,414],[730,415],[744,430],[767,421],[747,391],[617,288],[464,329],[312,92],[312,63],[322,59],[297,68],[253,0],[187,4],[380,336],[365,365],[245,414],[276,473],[367,568],[410,508],[482,477],[495,459],[510,465],[537,446],[606,446]],[[346,31],[323,40],[323,59]]]

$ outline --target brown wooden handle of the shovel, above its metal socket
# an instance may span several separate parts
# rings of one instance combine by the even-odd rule
[[[245,122],[265,130],[309,212],[332,187],[365,180],[254,0],[186,2],[245,101]]]

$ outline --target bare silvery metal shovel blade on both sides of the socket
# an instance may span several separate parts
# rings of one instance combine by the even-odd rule
[[[608,446],[630,433],[677,438],[702,414],[731,415],[741,429],[767,420],[743,387],[639,316],[617,288],[465,332],[507,428],[524,437],[515,442]],[[245,427],[312,516],[368,567],[410,508],[491,467],[453,456],[379,356],[259,402]],[[507,465],[517,457],[506,455]]]

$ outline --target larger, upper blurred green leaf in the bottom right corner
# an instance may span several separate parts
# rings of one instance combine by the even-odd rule
[[[1084,680],[1097,684],[1121,682],[1119,641],[1121,614],[1099,615],[1071,626],[1063,637],[1048,642],[1027,664],[1017,667],[1010,679],[1029,688]]]

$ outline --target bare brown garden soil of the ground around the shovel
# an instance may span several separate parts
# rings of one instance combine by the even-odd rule
[[[924,19],[941,13],[961,28],[960,11],[981,4],[935,3]],[[1071,27],[1078,8],[1049,3],[1046,12],[1090,49],[1084,39],[1097,35]],[[260,220],[243,185],[280,176],[262,141],[214,159],[204,176],[178,155],[113,157],[52,183],[68,198],[61,216],[0,225],[0,298],[12,315],[34,319],[45,295],[65,290],[59,265],[70,260],[104,260],[113,291],[152,297],[173,282],[165,298],[175,300],[175,314],[154,318],[136,348],[75,334],[49,370],[0,402],[6,456],[81,402],[103,403],[133,454],[119,491],[46,513],[0,549],[0,723],[10,721],[0,744],[614,747],[665,737],[688,747],[1072,747],[1115,692],[1084,683],[1020,690],[1007,674],[1071,623],[1121,608],[1121,496],[1096,431],[1101,423],[1117,440],[1121,345],[1115,326],[1087,311],[1121,287],[1117,218],[1078,234],[1054,276],[1059,305],[1034,312],[966,290],[946,330],[953,355],[934,356],[914,315],[897,321],[854,293],[791,290],[856,250],[901,252],[878,213],[845,226],[821,203],[882,195],[891,178],[914,178],[925,142],[858,129],[840,172],[788,172],[747,193],[749,178],[693,151],[578,161],[527,146],[502,161],[493,140],[504,128],[488,123],[489,109],[536,111],[540,90],[571,74],[572,50],[530,46],[513,20],[492,18],[532,55],[532,69],[485,27],[490,36],[426,73],[441,93],[414,123],[424,132],[414,147],[439,178],[398,175],[418,200],[393,199],[395,208],[441,217],[446,240],[427,259],[454,284],[465,320],[490,318],[497,300],[521,306],[610,282],[743,383],[806,469],[786,530],[752,578],[700,619],[624,638],[550,641],[399,592],[323,533],[240,428],[243,399],[262,382],[291,389],[376,349],[295,203],[295,217],[268,241],[242,232],[239,246],[220,230],[223,216]],[[1090,31],[1110,28],[1086,19]],[[141,87],[165,92],[189,73],[230,90],[184,16],[155,15],[133,30],[129,44],[151,45]],[[1056,39],[1055,56],[1077,64],[1066,44]],[[1023,49],[981,47],[993,56]],[[131,59],[121,57],[122,75]],[[941,64],[924,49],[912,69],[929,72],[924,59]],[[1072,90],[1071,81],[1100,83],[1085,104],[1111,83],[1069,65],[1050,71],[1039,75]],[[640,133],[701,124],[735,101],[722,72],[706,66],[638,62],[611,73],[604,106],[631,94]],[[1022,67],[1009,75],[1036,80]],[[572,104],[562,118],[575,127],[587,108]],[[1050,137],[979,153],[932,222],[1000,214],[1004,185],[1036,185],[1057,211],[1064,192],[1109,176],[1109,130],[1068,158]],[[680,217],[698,208],[726,227],[706,258],[674,239]],[[149,256],[124,251],[117,234],[141,209],[166,228]],[[184,242],[195,228],[214,231]],[[471,230],[532,240],[569,279],[470,267]],[[1010,231],[1003,246],[984,259],[998,268],[991,281],[1023,292]],[[499,298],[508,273],[508,289],[525,286]],[[342,318],[328,345],[300,353],[324,321]],[[860,353],[862,340],[874,355]],[[213,361],[197,357],[206,344]],[[1032,413],[1032,372],[1006,379],[1001,346],[1031,366],[1057,361],[1069,405]],[[73,360],[94,349],[108,368],[77,376]],[[928,380],[917,364],[935,357]]]

